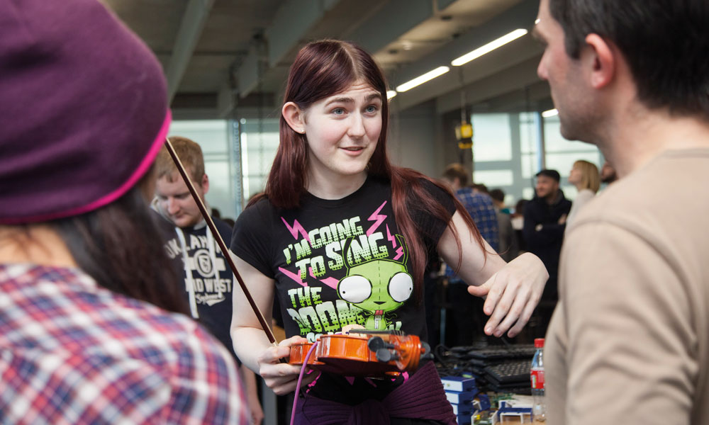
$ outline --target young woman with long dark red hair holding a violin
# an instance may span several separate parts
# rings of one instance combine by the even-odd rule
[[[389,162],[388,118],[386,82],[367,52],[323,40],[298,53],[266,190],[238,218],[231,243],[261,310],[279,299],[289,339],[278,347],[239,291],[232,322],[240,359],[277,394],[296,387],[300,368],[279,358],[303,338],[359,325],[425,340],[423,273],[436,251],[458,265],[471,295],[487,296],[487,334],[518,334],[540,298],[547,272],[536,256],[506,264],[450,191]],[[299,401],[302,424],[320,423],[323,412],[362,423],[454,421],[431,363],[408,380],[313,373],[305,382],[316,375]],[[417,407],[393,407],[404,399],[418,399]]]

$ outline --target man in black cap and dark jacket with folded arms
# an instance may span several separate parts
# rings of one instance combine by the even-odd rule
[[[535,336],[544,335],[558,299],[559,255],[564,242],[566,216],[571,210],[571,201],[564,197],[559,180],[559,171],[544,169],[538,172],[535,197],[525,206],[523,234],[527,249],[539,256],[549,271],[549,280],[536,311],[539,320]]]

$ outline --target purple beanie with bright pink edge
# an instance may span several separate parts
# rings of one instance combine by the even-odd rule
[[[150,169],[162,68],[96,0],[0,0],[0,224],[100,208]]]

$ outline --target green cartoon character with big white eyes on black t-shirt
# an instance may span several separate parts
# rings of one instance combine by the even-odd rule
[[[389,259],[373,259],[352,264],[350,242],[345,244],[347,276],[337,283],[337,294],[342,300],[364,310],[367,329],[393,329],[385,314],[393,312],[411,297],[413,278],[406,270],[406,244],[396,235],[403,248],[401,262]]]

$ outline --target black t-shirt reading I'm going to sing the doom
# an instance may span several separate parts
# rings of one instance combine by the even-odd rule
[[[423,184],[452,215],[452,198],[428,181]],[[430,251],[435,250],[447,223],[411,205]],[[347,324],[361,324],[427,338],[387,181],[370,176],[339,200],[306,194],[293,210],[262,199],[238,217],[231,249],[274,278],[287,336],[314,341]]]

